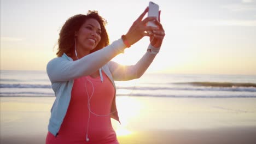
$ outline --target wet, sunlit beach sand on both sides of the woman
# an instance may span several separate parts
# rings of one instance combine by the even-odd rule
[[[1,97],[0,143],[45,143],[54,99]],[[256,143],[255,98],[117,97],[117,106],[120,144]]]

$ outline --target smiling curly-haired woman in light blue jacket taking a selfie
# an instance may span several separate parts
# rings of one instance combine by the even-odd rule
[[[148,8],[125,35],[110,45],[106,21],[97,11],[66,21],[60,31],[57,58],[47,65],[56,99],[46,143],[118,143],[110,122],[110,117],[119,121],[114,80],[142,76],[165,36],[155,17],[142,20],[147,12]],[[158,27],[146,26],[148,21],[155,21]],[[110,61],[144,36],[150,37],[150,45],[136,65],[122,66]]]

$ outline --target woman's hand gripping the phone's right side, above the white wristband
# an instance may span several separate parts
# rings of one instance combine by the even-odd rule
[[[160,13],[161,11],[159,11],[159,21],[155,21],[158,30],[152,31],[152,34],[150,35],[150,44],[156,48],[161,47],[162,40],[164,40],[165,37],[165,30],[160,23]]]

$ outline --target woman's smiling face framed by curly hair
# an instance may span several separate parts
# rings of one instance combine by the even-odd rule
[[[88,54],[101,40],[101,25],[96,19],[88,19],[79,28],[76,36],[77,52],[80,55]]]

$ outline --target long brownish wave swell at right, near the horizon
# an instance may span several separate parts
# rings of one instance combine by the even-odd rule
[[[239,82],[177,82],[177,85],[192,85],[204,87],[254,87],[256,83],[239,83]]]

